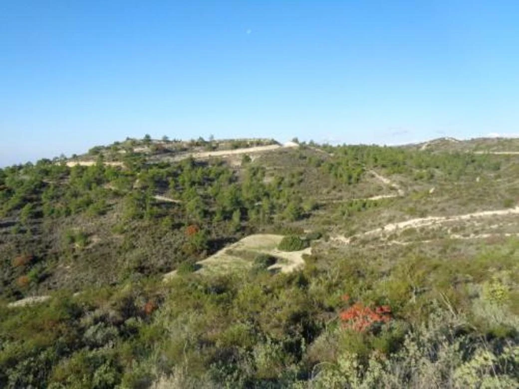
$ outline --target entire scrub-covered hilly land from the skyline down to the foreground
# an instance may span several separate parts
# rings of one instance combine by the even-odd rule
[[[516,387],[519,141],[127,139],[0,170],[0,387]]]

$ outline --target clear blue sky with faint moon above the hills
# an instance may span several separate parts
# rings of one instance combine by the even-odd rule
[[[0,132],[0,165],[145,133],[517,134],[519,1],[0,0]]]

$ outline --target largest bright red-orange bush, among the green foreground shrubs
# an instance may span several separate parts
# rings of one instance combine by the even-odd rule
[[[343,296],[343,300],[349,301],[349,296]],[[360,302],[351,305],[350,308],[339,314],[344,322],[344,327],[357,332],[364,332],[376,323],[388,323],[391,320],[391,307],[381,305],[371,309]]]

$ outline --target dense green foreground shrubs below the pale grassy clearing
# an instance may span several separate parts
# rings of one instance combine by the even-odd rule
[[[185,273],[166,285],[0,308],[0,385],[514,387],[519,339],[514,325],[499,335],[495,326],[517,321],[507,286],[515,276],[505,270],[516,266],[516,250],[511,241],[471,266],[450,265],[466,269],[467,287],[480,286],[472,295],[456,288],[447,296],[457,277],[449,261],[445,269],[422,258],[425,277],[418,262],[403,259],[387,274],[366,255],[295,274]],[[331,279],[337,271],[342,278]],[[410,299],[409,283],[424,291]],[[338,293],[345,290],[354,297]]]

